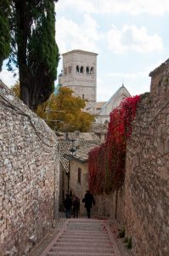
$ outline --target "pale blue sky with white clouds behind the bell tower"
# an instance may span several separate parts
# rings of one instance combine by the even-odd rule
[[[149,73],[169,57],[169,0],[59,0],[55,10],[60,55],[98,54],[97,101],[109,100],[121,84],[132,96],[149,91]],[[0,79],[15,83],[5,65]]]

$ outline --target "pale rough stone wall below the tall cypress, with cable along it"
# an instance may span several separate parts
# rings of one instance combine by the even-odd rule
[[[57,218],[57,139],[1,81],[0,186],[0,254],[27,255]]]

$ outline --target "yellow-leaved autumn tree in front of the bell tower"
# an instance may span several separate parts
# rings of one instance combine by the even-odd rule
[[[19,96],[16,87],[19,84],[15,84],[12,90]],[[72,94],[73,90],[61,87],[57,96],[52,94],[35,112],[55,131],[89,131],[94,116],[82,111],[86,105],[85,100]]]

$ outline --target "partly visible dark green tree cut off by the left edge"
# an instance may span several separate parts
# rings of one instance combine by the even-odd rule
[[[0,2],[0,71],[2,70],[3,60],[8,57],[10,52],[9,3],[10,0],[1,0]]]

